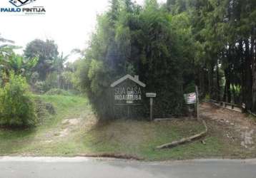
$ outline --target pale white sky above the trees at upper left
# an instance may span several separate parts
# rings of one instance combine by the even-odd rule
[[[24,0],[23,0],[24,1]],[[144,0],[134,0],[143,4]],[[160,3],[165,0],[158,0]],[[15,41],[22,46],[17,53],[22,53],[26,43],[35,38],[52,39],[59,46],[59,53],[68,55],[74,48],[85,48],[90,34],[97,23],[97,14],[102,14],[109,7],[109,0],[36,0],[26,6],[44,6],[46,14],[34,16],[0,13],[1,36]],[[9,0],[0,0],[0,8],[14,7]],[[25,7],[25,6],[24,6]],[[70,56],[75,61],[78,56]]]

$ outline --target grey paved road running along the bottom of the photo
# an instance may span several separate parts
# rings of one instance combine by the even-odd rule
[[[0,157],[0,177],[256,178],[256,159],[136,162],[86,157]]]

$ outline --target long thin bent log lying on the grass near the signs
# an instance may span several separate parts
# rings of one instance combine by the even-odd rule
[[[173,141],[173,142],[170,142],[170,143],[166,143],[164,145],[159,145],[159,146],[156,147],[156,149],[177,147],[178,145],[183,145],[185,143],[192,142],[194,140],[199,140],[200,138],[205,137],[205,135],[207,135],[208,128],[207,128],[207,125],[205,123],[205,120],[202,120],[202,123],[205,126],[205,131],[200,132],[199,134],[193,135],[191,137],[184,137],[181,140],[176,140],[176,141]]]

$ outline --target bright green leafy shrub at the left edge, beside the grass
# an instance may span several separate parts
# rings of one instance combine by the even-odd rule
[[[26,127],[36,124],[34,102],[26,79],[11,73],[9,83],[0,89],[0,125]]]

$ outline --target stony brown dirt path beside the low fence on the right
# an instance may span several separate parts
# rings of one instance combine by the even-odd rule
[[[220,129],[226,131],[230,140],[238,140],[242,147],[255,149],[256,125],[245,114],[225,108],[219,108],[210,103],[200,105],[200,117],[214,121]]]

